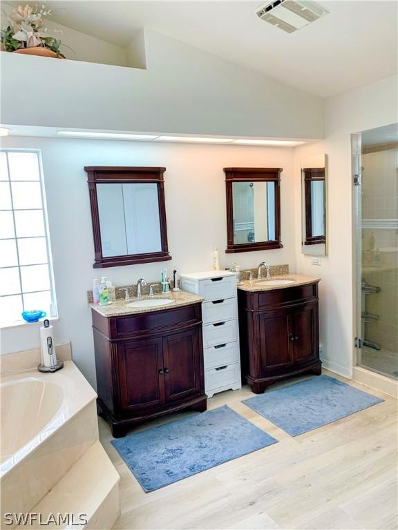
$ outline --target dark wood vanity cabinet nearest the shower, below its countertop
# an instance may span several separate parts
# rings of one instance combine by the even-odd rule
[[[267,291],[238,289],[243,379],[256,394],[291,375],[321,374],[318,280]]]

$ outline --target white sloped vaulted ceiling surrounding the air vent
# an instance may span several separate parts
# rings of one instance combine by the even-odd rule
[[[397,2],[319,3],[329,14],[288,34],[256,17],[261,1],[48,2],[57,22],[108,42],[151,27],[320,97],[397,72]]]

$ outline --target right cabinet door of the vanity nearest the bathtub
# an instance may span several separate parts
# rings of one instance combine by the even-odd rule
[[[163,338],[164,390],[173,402],[203,393],[201,328]]]

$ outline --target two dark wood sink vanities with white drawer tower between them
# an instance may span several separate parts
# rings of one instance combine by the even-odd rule
[[[211,271],[182,275],[186,290],[92,304],[98,410],[113,436],[165,413],[205,411],[208,395],[241,379],[262,393],[321,373],[318,282],[284,274],[237,286],[234,273]]]

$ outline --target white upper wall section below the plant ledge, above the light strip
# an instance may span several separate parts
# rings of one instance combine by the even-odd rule
[[[2,123],[323,137],[320,98],[156,32],[144,35],[147,70],[1,53]],[[40,82],[27,92],[26,79]]]

